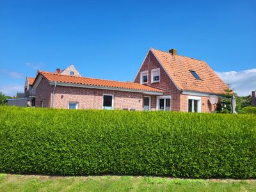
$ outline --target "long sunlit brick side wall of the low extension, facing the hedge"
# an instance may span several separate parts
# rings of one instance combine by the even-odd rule
[[[102,109],[103,94],[114,95],[114,109],[143,110],[142,93],[58,86],[58,84],[54,95],[54,108],[67,109],[69,102],[77,102],[79,109]]]

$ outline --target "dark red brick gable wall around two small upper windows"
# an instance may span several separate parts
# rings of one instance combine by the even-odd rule
[[[160,83],[151,83],[151,70],[154,68],[160,68]],[[161,65],[155,58],[155,56],[150,51],[147,58],[145,59],[138,75],[134,79],[134,83],[140,83],[140,72],[148,70],[148,86],[153,86],[156,88],[160,88],[164,90],[164,95],[171,95],[172,96],[172,104],[171,108],[172,111],[179,111],[180,110],[180,91],[175,87],[175,84],[172,83],[170,77]],[[156,96],[151,96],[151,110],[156,110]]]

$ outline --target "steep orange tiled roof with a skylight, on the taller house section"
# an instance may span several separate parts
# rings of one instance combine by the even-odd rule
[[[222,94],[228,88],[205,62],[151,48],[173,83],[182,91]],[[196,79],[196,74],[200,77]]]

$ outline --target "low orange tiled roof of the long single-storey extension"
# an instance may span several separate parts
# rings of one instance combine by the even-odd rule
[[[45,72],[45,71],[38,71],[38,75],[36,76],[36,79],[38,79],[38,76],[42,75],[50,82],[58,82],[58,83],[66,83],[70,86],[84,84],[88,86],[100,87],[101,89],[104,88],[118,88],[120,90],[135,90],[135,91],[142,91],[142,92],[157,92],[157,93],[163,93],[163,90],[159,90],[158,88],[153,88],[151,86],[145,86],[143,84],[139,83],[131,83],[131,82],[122,82],[122,81],[110,81],[110,80],[104,80],[104,79],[94,79],[89,77],[77,77],[77,76],[67,76],[63,74],[58,73],[52,73],[52,72]],[[64,84],[63,84],[64,85]]]

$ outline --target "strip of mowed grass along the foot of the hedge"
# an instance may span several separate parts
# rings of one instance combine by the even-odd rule
[[[256,180],[141,176],[52,177],[0,173],[0,191],[256,191]]]

